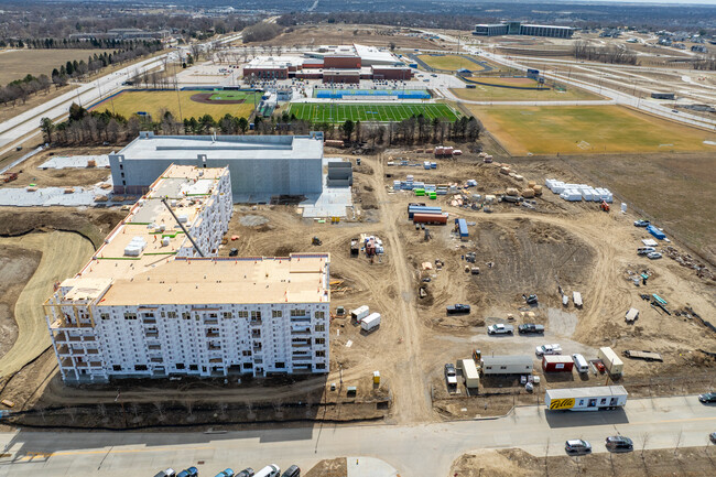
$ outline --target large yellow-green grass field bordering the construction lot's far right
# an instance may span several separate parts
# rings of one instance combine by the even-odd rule
[[[514,155],[716,152],[714,132],[619,106],[466,106]]]

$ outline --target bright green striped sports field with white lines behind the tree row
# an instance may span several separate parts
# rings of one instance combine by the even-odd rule
[[[454,121],[459,117],[453,108],[443,104],[315,104],[295,102],[289,109],[290,115],[311,122],[339,123],[351,121],[397,122],[412,116],[423,115],[427,119]]]

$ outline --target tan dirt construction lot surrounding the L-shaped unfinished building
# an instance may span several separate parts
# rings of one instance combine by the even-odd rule
[[[457,161],[440,160],[438,167],[430,171],[387,165],[389,156],[399,155],[417,162],[430,158],[404,150],[364,158],[364,165],[355,167],[355,220],[318,224],[302,218],[292,205],[237,205],[227,241],[219,250],[220,256],[227,256],[232,248],[240,256],[330,252],[332,307],[350,310],[367,304],[372,312],[382,314],[382,322],[377,330],[367,334],[348,317],[333,319],[328,376],[247,380],[241,384],[126,381],[68,388],[57,377],[53,354],[45,353],[18,373],[0,398],[12,399],[23,409],[36,412],[58,409],[53,411],[57,413],[52,418],[58,420],[56,422],[87,426],[122,426],[121,411],[115,402],[117,387],[121,389],[124,403],[137,410],[134,418],[126,416],[124,426],[154,425],[173,422],[173,419],[189,425],[203,422],[197,415],[205,415],[210,422],[214,413],[230,416],[227,423],[251,419],[275,422],[296,416],[319,420],[322,413],[315,408],[319,402],[332,403],[333,408],[323,413],[326,419],[421,423],[501,414],[513,403],[536,402],[545,387],[597,386],[606,379],[604,375],[554,376],[536,371],[543,379],[534,394],[525,393],[518,380],[509,379],[485,380],[478,397],[466,395],[462,384],[458,393],[448,393],[443,378],[444,364],[468,358],[475,348],[484,355],[534,356],[536,345],[560,343],[565,355],[582,353],[587,359],[596,358],[597,348],[601,346],[611,346],[619,354],[626,349],[661,353],[663,364],[631,360],[625,364],[625,376],[618,382],[634,395],[698,391],[704,387],[703,376],[713,376],[716,364],[701,350],[713,350],[714,335],[696,315],[704,319],[714,315],[715,282],[697,277],[694,270],[670,258],[651,261],[637,256],[641,239],[648,237],[643,228],[632,225],[638,216],[619,214],[618,207],[606,214],[595,203],[566,203],[550,192],[535,198],[534,208],[498,203],[489,205],[491,214],[482,212],[479,205],[470,208],[457,203],[458,199],[469,202],[473,194],[503,193],[507,187],[521,189],[530,180],[538,184],[543,184],[546,177],[588,182],[568,164],[558,160],[516,161],[512,166],[524,176],[523,181],[517,181],[500,174],[496,164],[478,162],[477,156],[467,151]],[[406,206],[427,200],[389,188],[393,180],[402,180],[409,173],[414,174],[416,181],[436,184],[462,186],[468,178],[477,181],[477,187],[459,189],[462,198],[451,194],[431,202],[449,213],[449,221],[462,217],[470,224],[466,240],[456,237],[448,225],[428,226],[432,238],[424,241],[425,232],[416,230],[408,220]],[[36,228],[44,229],[59,228],[63,220],[69,224],[75,220],[74,215],[82,217],[84,214],[95,225],[75,225],[85,230],[94,229],[86,235],[91,236],[95,243],[96,237],[101,241],[111,223],[121,217],[120,213],[111,213],[110,220],[104,215],[109,212],[100,214],[98,210],[64,213],[64,216],[56,210],[54,214],[36,210],[32,214],[44,217],[36,224]],[[56,220],[51,223],[50,217]],[[0,230],[0,234],[8,232]],[[386,253],[372,262],[362,252],[351,258],[350,239],[361,234],[379,237]],[[238,239],[229,240],[232,236]],[[72,241],[64,235],[55,236],[51,241],[54,247],[48,250],[47,242],[39,241],[40,237],[31,234],[2,239],[3,245],[42,251],[39,271],[44,270],[43,262],[47,260],[58,264],[52,270],[53,277],[42,280],[42,290],[34,286],[33,280],[39,273],[35,272],[30,282],[32,286],[23,291],[36,290],[32,299],[28,299],[28,303],[35,306],[48,295],[59,274],[78,270],[91,251],[89,241]],[[322,245],[313,246],[313,237],[318,237]],[[31,243],[32,240],[36,242]],[[671,245],[683,250],[679,241]],[[463,260],[468,252],[475,253],[475,263]],[[479,274],[465,272],[466,265],[478,267]],[[634,273],[647,273],[648,284],[636,286]],[[22,277],[21,271],[18,275]],[[582,292],[584,307],[576,308],[572,304],[563,307],[560,288],[569,296],[573,291]],[[529,307],[522,295],[532,293],[539,296],[539,305]],[[668,300],[672,314],[649,306],[640,297],[643,293],[657,293]],[[21,295],[14,308],[22,303]],[[446,315],[445,306],[454,303],[470,304],[471,313]],[[641,314],[636,324],[628,325],[623,316],[632,306]],[[44,318],[39,316],[39,308],[32,313],[25,316],[40,329],[37,336],[43,335],[46,333]],[[492,337],[486,333],[490,324],[518,325],[528,321],[544,324],[545,335]],[[46,338],[39,337],[32,346],[41,351]],[[6,361],[19,362],[12,351],[0,364]],[[540,368],[536,358],[534,365],[535,369]],[[379,388],[373,388],[371,382],[376,370],[381,373]],[[358,398],[362,400],[358,405],[362,408],[348,405],[345,388],[330,391],[330,383],[358,386]],[[648,386],[650,383],[654,386]],[[271,392],[267,392],[267,388]],[[304,411],[299,401],[303,403],[300,405],[314,406]],[[383,406],[386,402],[389,406]],[[78,406],[82,413],[65,412],[58,404]],[[257,408],[259,404],[265,409]],[[284,410],[289,404],[290,410]],[[234,405],[243,408],[231,408]],[[159,413],[152,412],[158,408],[161,409]],[[188,421],[187,411],[195,421]],[[160,416],[164,421],[158,421]],[[34,424],[42,425],[46,418],[43,414],[41,420],[35,414],[26,419],[34,419]]]

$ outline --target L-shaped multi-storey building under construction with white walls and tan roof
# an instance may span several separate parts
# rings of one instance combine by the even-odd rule
[[[45,302],[63,379],[328,372],[329,256],[217,258],[229,170],[160,175]]]

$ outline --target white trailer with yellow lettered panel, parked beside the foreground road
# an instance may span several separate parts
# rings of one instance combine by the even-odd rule
[[[599,411],[623,406],[628,395],[623,386],[547,389],[544,404],[551,411]]]

